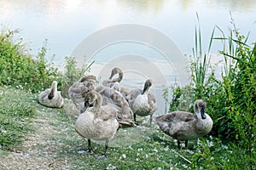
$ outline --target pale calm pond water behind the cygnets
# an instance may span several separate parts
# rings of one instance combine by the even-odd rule
[[[47,58],[55,55],[60,68],[65,56],[73,55],[81,66],[94,60],[91,74],[101,80],[119,66],[123,84],[142,88],[152,78],[158,113],[165,109],[162,88],[189,82],[184,55],[192,54],[199,15],[203,49],[207,50],[214,26],[228,35],[230,12],[241,33],[256,37],[255,0],[0,0],[0,24],[20,28],[20,37],[31,53],[47,38]],[[220,35],[219,33],[217,34]],[[219,42],[212,44],[212,62],[218,61]]]

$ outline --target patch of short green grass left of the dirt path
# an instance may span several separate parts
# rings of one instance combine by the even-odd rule
[[[18,89],[0,87],[0,149],[13,150],[24,141],[35,114],[32,94]]]

